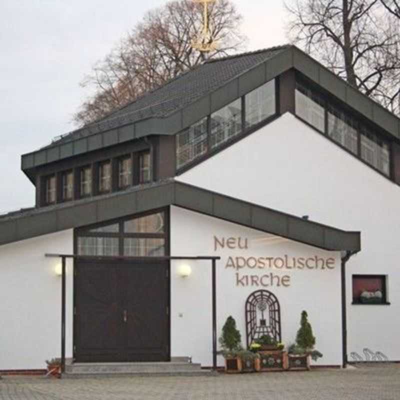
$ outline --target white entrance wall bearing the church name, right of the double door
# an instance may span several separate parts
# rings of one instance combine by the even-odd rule
[[[229,237],[247,239],[248,248],[215,250],[214,236],[220,241]],[[282,341],[292,343],[299,327],[303,309],[308,312],[316,347],[323,353],[318,361],[323,365],[341,363],[340,254],[328,252],[281,237],[273,236],[218,218],[209,217],[179,207],[171,207],[171,255],[218,255],[217,261],[217,335],[226,318],[232,315],[245,345],[244,306],[247,296],[266,289],[277,297],[281,307]],[[310,257],[333,258],[332,269],[249,268],[239,271],[227,267],[228,257]],[[192,274],[179,276],[181,264],[189,264]],[[288,275],[287,286],[236,285],[236,272],[243,275],[273,273]],[[242,280],[243,281],[243,280]],[[264,283],[268,280],[264,280]],[[212,365],[211,329],[211,262],[173,261],[171,264],[171,355],[192,356],[193,362]],[[222,364],[219,358],[218,363]]]

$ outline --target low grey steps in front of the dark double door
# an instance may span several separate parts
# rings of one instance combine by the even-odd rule
[[[76,362],[65,364],[62,377],[93,377],[116,375],[210,375],[208,369],[187,361],[171,362]]]

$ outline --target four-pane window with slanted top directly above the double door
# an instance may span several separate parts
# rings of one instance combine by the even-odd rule
[[[77,229],[76,251],[88,256],[165,255],[168,229],[164,211]]]

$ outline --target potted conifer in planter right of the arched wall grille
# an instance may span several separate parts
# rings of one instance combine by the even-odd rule
[[[296,342],[288,348],[289,369],[310,369],[310,358],[314,361],[322,354],[314,349],[315,336],[308,322],[306,311],[301,312],[300,328],[297,331]]]

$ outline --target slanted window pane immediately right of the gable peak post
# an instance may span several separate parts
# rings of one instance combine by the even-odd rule
[[[325,131],[325,109],[323,100],[311,89],[296,82],[295,90],[296,115],[316,127]]]

